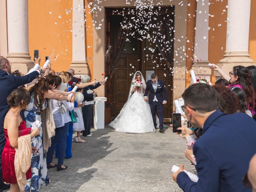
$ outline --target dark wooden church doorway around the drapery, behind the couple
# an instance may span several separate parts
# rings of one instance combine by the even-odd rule
[[[127,8],[128,11],[130,8]],[[117,14],[122,12],[123,14]],[[165,7],[161,14],[156,16],[158,22],[166,25],[163,33],[166,33],[164,41],[172,42],[174,29],[174,12],[173,7]],[[113,14],[114,13],[114,14]],[[112,9],[106,8],[106,73],[110,72],[110,65],[113,62],[118,50],[118,39],[121,36],[124,12],[123,8]],[[153,31],[149,34],[152,35]],[[172,34],[170,36],[170,34]],[[113,76],[110,82],[106,84],[106,112],[110,113],[111,118],[116,117],[128,99],[130,84],[132,77],[136,71],[141,71],[145,81],[150,80],[150,74],[156,73],[158,79],[164,81],[168,92],[168,104],[164,106],[164,118],[172,116],[172,87],[173,74],[167,67],[166,61],[161,56],[161,51],[158,50],[157,44],[148,39],[140,38],[140,34],[134,33],[133,37],[128,37],[122,47],[120,57],[114,69]],[[140,40],[139,40],[140,39]],[[173,46],[173,45],[172,45]],[[170,48],[169,58],[173,61],[173,48]]]

